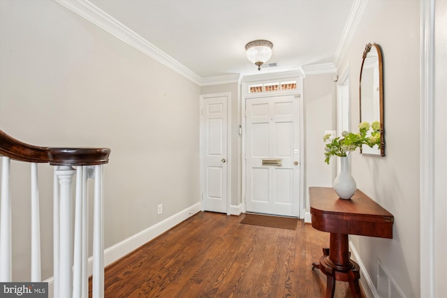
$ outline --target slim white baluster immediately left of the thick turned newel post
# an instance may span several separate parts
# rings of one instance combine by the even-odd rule
[[[53,293],[54,297],[59,295],[59,179],[57,178],[57,170],[59,167],[54,167],[53,175]]]

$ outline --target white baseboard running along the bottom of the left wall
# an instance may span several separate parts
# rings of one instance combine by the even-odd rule
[[[137,249],[138,247],[154,239],[160,234],[163,234],[170,228],[173,228],[175,225],[178,225],[186,218],[189,218],[194,214],[198,213],[201,210],[201,207],[202,207],[201,202],[193,204],[192,206],[182,211],[179,211],[177,214],[174,214],[173,216],[170,216],[164,219],[163,221],[156,223],[155,225],[151,225],[149,228],[142,230],[141,232],[138,232],[137,234],[134,234],[133,236],[124,239],[123,241],[118,242],[115,245],[105,248],[104,266],[106,267],[112,264],[113,262],[124,257],[124,255],[127,255],[132,251],[135,251],[135,249]],[[88,276],[91,276],[92,273],[93,273],[93,258],[89,258],[87,274]],[[53,281],[54,281],[53,277],[50,277],[45,281],[45,283],[48,283],[48,297],[50,298],[53,297],[52,295]]]

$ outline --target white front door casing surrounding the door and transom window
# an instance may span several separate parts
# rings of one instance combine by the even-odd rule
[[[251,84],[268,84],[271,82],[279,81],[288,81],[295,80],[296,81],[296,89],[293,90],[284,90],[284,91],[268,91],[265,93],[255,93],[249,94],[248,87]],[[298,198],[298,218],[304,218],[305,216],[305,119],[304,119],[304,94],[303,94],[303,77],[299,72],[291,72],[284,74],[272,74],[272,75],[263,75],[263,76],[253,76],[253,77],[244,77],[241,83],[241,105],[242,105],[242,113],[241,113],[241,126],[242,126],[242,213],[247,212],[247,125],[245,123],[246,119],[246,106],[245,102],[247,98],[261,98],[261,97],[272,97],[272,96],[295,96],[298,99],[298,107],[299,107],[299,118],[300,118],[300,154],[299,154],[299,173],[300,173],[300,181],[299,181],[299,198]]]

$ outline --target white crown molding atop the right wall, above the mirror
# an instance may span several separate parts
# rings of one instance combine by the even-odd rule
[[[348,21],[343,30],[342,38],[339,41],[337,50],[335,51],[334,65],[339,68],[346,55],[351,40],[356,33],[358,23],[362,19],[365,8],[369,0],[355,0],[352,4],[351,11],[348,16]]]

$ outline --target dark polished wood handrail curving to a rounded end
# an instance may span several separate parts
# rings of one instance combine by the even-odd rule
[[[102,165],[108,163],[108,148],[38,147],[7,135],[0,130],[0,155],[15,161],[50,165]]]

